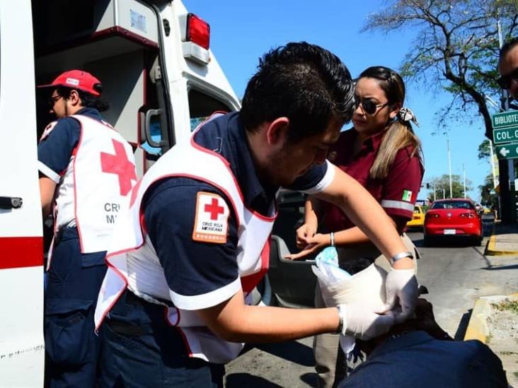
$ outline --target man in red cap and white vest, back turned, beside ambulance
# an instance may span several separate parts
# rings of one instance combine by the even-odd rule
[[[119,209],[137,180],[132,148],[99,111],[100,81],[71,70],[50,85],[50,123],[38,145],[43,216],[54,217],[45,289],[45,379],[93,387],[99,353],[93,311]]]

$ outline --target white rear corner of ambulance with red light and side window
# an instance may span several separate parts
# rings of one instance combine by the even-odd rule
[[[159,83],[163,116],[155,121],[154,130],[153,124],[149,128],[151,120],[144,120],[142,139],[149,141],[149,134],[154,134],[151,146],[161,154],[189,141],[192,131],[212,113],[233,112],[241,104],[209,48],[209,23],[189,13],[178,0],[147,3],[159,23],[159,57],[151,82]],[[163,125],[168,127],[164,130]]]

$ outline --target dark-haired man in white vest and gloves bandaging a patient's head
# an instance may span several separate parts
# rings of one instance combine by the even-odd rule
[[[387,287],[412,312],[413,258],[372,196],[326,161],[354,106],[352,80],[338,57],[289,43],[260,59],[240,112],[211,117],[190,144],[173,147],[146,172],[107,255],[96,309],[106,345],[101,387],[222,387],[224,363],[241,343],[326,332],[366,339],[388,331],[393,316],[361,304],[246,304],[267,266],[268,251],[258,247],[270,234],[280,187],[337,204],[397,259]],[[249,248],[261,254],[249,257]]]

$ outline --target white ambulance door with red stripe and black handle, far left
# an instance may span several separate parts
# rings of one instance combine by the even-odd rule
[[[30,0],[0,1],[0,385],[42,387],[43,247]]]

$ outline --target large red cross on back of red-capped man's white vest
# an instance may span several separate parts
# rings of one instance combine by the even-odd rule
[[[100,153],[100,169],[108,174],[117,174],[119,178],[120,195],[125,196],[132,189],[132,180],[137,180],[135,166],[127,159],[124,144],[112,139],[115,155]]]

